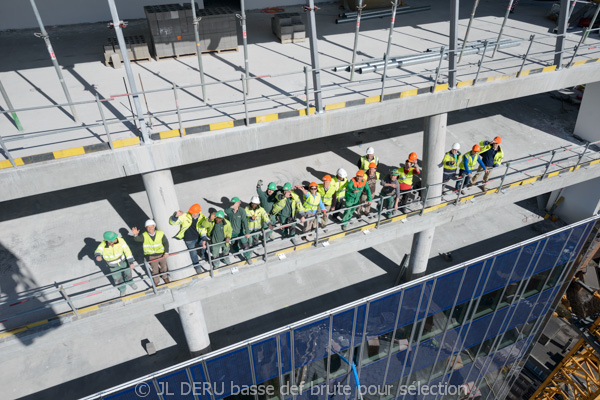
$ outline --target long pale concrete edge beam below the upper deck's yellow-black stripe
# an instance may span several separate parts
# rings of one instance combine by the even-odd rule
[[[211,131],[159,141],[151,146],[127,147],[7,168],[0,171],[3,183],[0,202],[596,81],[600,81],[600,68],[595,64],[581,65],[519,79],[370,103],[310,117]]]

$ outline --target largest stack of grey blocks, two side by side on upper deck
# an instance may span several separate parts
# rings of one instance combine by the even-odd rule
[[[196,53],[191,4],[145,6],[154,54],[157,59]],[[237,26],[233,10],[227,7],[199,10],[201,51],[237,50]]]

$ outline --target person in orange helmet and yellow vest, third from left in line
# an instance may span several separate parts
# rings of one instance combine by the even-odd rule
[[[200,207],[200,204],[192,205],[186,213],[181,210],[175,211],[173,215],[171,215],[171,218],[169,218],[169,224],[181,225],[175,238],[183,239],[188,249],[194,249],[198,247],[199,244],[202,245],[200,255],[203,259],[206,257],[206,242],[208,241],[206,228],[204,227],[205,222],[206,217],[202,214],[202,207]],[[195,229],[189,229],[192,226]],[[192,264],[194,265],[194,268],[196,268],[196,272],[202,272],[200,261],[198,260],[198,251],[192,250],[189,253]]]

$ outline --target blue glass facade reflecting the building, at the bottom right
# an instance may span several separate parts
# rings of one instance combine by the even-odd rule
[[[518,371],[511,367],[528,353],[595,223],[571,225],[96,397],[352,400],[358,379],[369,400],[458,398],[440,393],[444,385],[495,399]],[[135,387],[140,383],[147,396]],[[406,392],[423,385],[430,393]]]

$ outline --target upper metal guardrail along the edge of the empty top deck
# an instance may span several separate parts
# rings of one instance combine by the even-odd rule
[[[419,71],[415,71],[415,72],[400,74],[397,76],[388,76],[389,73],[391,72],[391,70],[394,69],[394,67],[388,66],[388,63],[384,62],[385,68],[384,68],[383,74],[381,76],[377,76],[375,78],[367,77],[366,79],[362,79],[362,80],[349,80],[348,82],[345,82],[345,83],[331,83],[331,84],[323,86],[320,93],[322,94],[325,92],[332,92],[332,96],[335,96],[333,94],[333,92],[339,91],[340,89],[353,88],[353,91],[356,91],[356,89],[354,89],[354,88],[356,88],[358,86],[371,85],[371,87],[365,88],[365,90],[366,91],[380,90],[380,92],[381,92],[380,101],[384,101],[385,90],[386,90],[386,88],[389,89],[391,87],[389,85],[390,81],[400,81],[404,78],[419,77],[420,75],[423,75],[424,73],[427,73],[427,72],[435,72],[435,81],[433,81],[433,77],[430,77],[429,79],[425,79],[425,82],[428,82],[428,83],[431,83],[433,81],[433,83],[434,83],[433,92],[435,92],[438,89],[439,80],[442,75],[442,72],[444,72],[445,74],[458,74],[458,73],[464,72],[464,74],[467,75],[467,74],[471,73],[468,70],[470,70],[470,69],[472,69],[472,67],[476,66],[477,72],[475,75],[475,79],[472,82],[472,85],[476,85],[477,80],[479,78],[479,75],[480,75],[481,70],[484,65],[488,69],[491,69],[492,66],[496,66],[499,63],[504,63],[509,59],[518,60],[518,63],[516,63],[516,64],[511,64],[509,66],[501,66],[501,67],[499,67],[499,69],[519,68],[518,72],[515,75],[517,78],[519,78],[519,77],[521,77],[523,68],[524,68],[525,64],[527,63],[527,61],[536,63],[538,65],[551,66],[554,63],[554,57],[556,54],[562,54],[565,57],[571,55],[570,61],[568,63],[557,66],[557,69],[561,69],[563,67],[570,68],[574,65],[576,59],[585,60],[585,59],[588,59],[592,54],[600,53],[600,48],[596,45],[591,45],[591,46],[585,47],[585,40],[587,39],[589,34],[594,31],[599,31],[599,29],[593,29],[593,30],[586,29],[585,31],[566,33],[564,35],[564,40],[566,42],[573,43],[574,46],[572,47],[572,49],[567,48],[565,46],[565,50],[562,52],[559,52],[559,53],[557,53],[553,48],[552,48],[552,50],[543,50],[543,51],[532,52],[532,48],[534,47],[534,45],[535,45],[535,47],[553,47],[552,44],[543,42],[543,39],[555,40],[557,38],[563,37],[563,35],[531,35],[531,36],[529,36],[529,38],[512,37],[510,40],[513,42],[514,41],[529,42],[527,50],[523,55],[517,56],[517,55],[509,54],[509,55],[505,55],[505,57],[493,58],[493,56],[492,56],[492,57],[489,57],[489,59],[488,59],[488,58],[486,58],[486,52],[484,51],[484,52],[482,52],[481,56],[478,57],[478,61],[476,63],[459,65],[459,66],[457,66],[457,68],[455,70],[451,70],[449,67],[442,68],[442,63],[445,58],[447,58],[448,60],[450,58],[452,58],[451,57],[452,54],[456,53],[455,54],[455,57],[456,57],[462,51],[462,48],[459,48],[455,52],[453,52],[453,51],[446,50],[445,47],[442,47],[441,51],[436,56],[437,58],[439,58],[439,62],[438,62],[438,67],[435,70],[423,69],[423,70],[419,70]],[[580,37],[578,37],[578,35],[580,35]],[[572,39],[572,38],[576,38],[576,40]],[[486,44],[486,47],[487,47],[488,42],[495,43],[496,40],[497,39],[490,39],[489,41],[485,40],[485,41],[481,41],[481,42]],[[586,50],[586,49],[588,50],[588,52],[584,53],[583,50]],[[417,54],[426,54],[426,53],[417,53]],[[433,55],[435,56],[435,52],[433,52]],[[385,54],[384,54],[383,59],[389,60],[390,63],[394,61],[393,57],[389,57],[389,55],[385,55]],[[381,60],[374,59],[374,60],[370,60],[367,62],[361,61],[360,63],[365,64],[365,63],[369,63],[369,62],[371,62],[371,63],[378,62],[378,61],[383,61],[383,59],[381,59]],[[173,84],[168,87],[160,88],[160,89],[145,90],[142,92],[115,94],[115,95],[111,95],[109,98],[105,98],[105,99],[100,99],[98,95],[95,95],[95,99],[93,99],[93,100],[74,101],[74,102],[69,102],[66,104],[52,104],[52,105],[37,106],[37,107],[24,107],[24,108],[18,108],[18,109],[12,109],[11,107],[8,107],[5,110],[0,110],[0,114],[7,114],[7,116],[9,116],[9,115],[13,115],[13,114],[16,115],[16,113],[40,111],[40,110],[45,110],[45,109],[58,109],[58,108],[64,108],[67,106],[74,107],[74,106],[90,106],[91,105],[91,106],[95,106],[98,109],[98,114],[99,114],[98,119],[101,120],[101,122],[94,122],[94,123],[89,123],[89,124],[83,123],[80,126],[62,127],[62,128],[53,129],[53,130],[37,131],[37,132],[30,132],[30,133],[19,133],[19,134],[13,134],[13,135],[9,135],[9,136],[5,135],[5,137],[2,137],[0,135],[0,147],[4,151],[6,157],[11,162],[12,166],[17,167],[17,163],[13,159],[13,156],[11,155],[10,150],[7,147],[7,143],[11,143],[11,142],[15,142],[15,141],[22,141],[22,140],[27,140],[27,139],[33,139],[33,138],[38,138],[38,137],[53,136],[53,135],[57,135],[57,134],[61,134],[61,133],[73,132],[73,131],[78,131],[78,130],[86,130],[89,132],[89,129],[103,127],[104,135],[97,134],[96,136],[98,136],[99,138],[106,136],[106,138],[105,138],[106,142],[108,142],[111,149],[114,149],[113,138],[111,137],[111,128],[110,127],[114,126],[116,124],[123,124],[123,123],[135,124],[136,121],[138,121],[140,119],[143,119],[145,121],[146,125],[151,125],[146,120],[146,117],[151,121],[152,119],[156,120],[156,119],[160,119],[162,117],[176,115],[177,116],[176,124],[178,126],[179,135],[181,137],[183,137],[184,136],[184,126],[183,126],[183,120],[182,120],[183,114],[194,113],[194,117],[198,118],[198,115],[197,115],[198,113],[202,113],[205,111],[223,110],[226,108],[243,105],[244,120],[245,120],[245,123],[248,125],[249,124],[249,116],[250,116],[250,112],[251,112],[250,108],[252,106],[258,105],[258,104],[265,104],[266,102],[273,102],[275,100],[287,99],[287,100],[292,101],[292,104],[298,103],[301,107],[305,108],[306,116],[310,116],[310,114],[311,114],[311,112],[310,112],[311,111],[310,94],[312,93],[313,98],[315,98],[315,96],[317,95],[317,92],[314,89],[310,88],[310,79],[309,79],[310,74],[313,73],[314,71],[319,71],[319,72],[325,72],[325,71],[331,72],[331,71],[337,71],[337,70],[341,71],[348,67],[350,67],[350,69],[353,70],[353,67],[355,67],[356,65],[357,64],[342,64],[342,65],[336,65],[336,66],[328,66],[328,67],[320,68],[318,70],[313,70],[311,68],[304,67],[304,69],[302,71],[295,71],[295,72],[281,73],[281,74],[264,74],[264,75],[254,76],[254,77],[248,77],[248,76],[242,74],[240,79],[217,80],[215,82],[189,84],[189,85]],[[286,91],[283,94],[277,94],[277,95],[273,95],[273,96],[259,96],[259,97],[255,97],[255,98],[248,98],[248,96],[247,96],[246,88],[248,87],[249,82],[252,80],[262,80],[265,82],[274,82],[274,80],[276,78],[287,78],[287,77],[294,77],[294,76],[297,77],[299,75],[303,76],[303,78],[304,78],[303,79],[304,80],[304,88],[302,88],[300,90],[291,91],[291,92]],[[379,87],[378,82],[381,82],[379,89],[378,89],[378,87]],[[372,86],[375,83],[377,83],[377,87]],[[387,84],[387,86],[386,86],[386,84]],[[203,91],[206,91],[208,88],[215,87],[217,85],[219,87],[224,87],[224,86],[233,87],[233,88],[235,88],[235,90],[240,92],[242,96],[240,96],[241,98],[239,100],[227,101],[224,103],[207,104],[203,99],[202,100],[203,104],[198,105],[198,106],[192,106],[192,107],[187,107],[187,108],[182,108],[180,106],[180,101],[179,101],[178,94],[177,94],[178,91],[185,91],[187,89],[198,88],[198,87],[201,87]],[[237,88],[238,85],[239,85],[239,89]],[[269,83],[269,85],[275,86],[278,89],[280,89],[281,91],[285,91],[285,89],[279,87],[279,85],[277,85],[277,83]],[[448,89],[453,89],[453,88],[448,87]],[[174,108],[171,110],[167,110],[167,111],[151,112],[149,109],[147,109],[146,114],[144,116],[135,116],[134,115],[132,117],[107,118],[106,113],[110,112],[110,110],[104,110],[104,108],[103,108],[103,106],[105,107],[106,104],[116,101],[116,100],[119,100],[123,97],[130,98],[133,96],[140,96],[140,95],[147,96],[147,95],[151,95],[151,94],[159,94],[162,96],[169,92],[171,93],[171,96],[174,101]],[[305,96],[304,101],[302,101],[302,99],[298,98],[298,96]],[[321,111],[323,111],[323,110],[316,110],[316,112],[321,112]],[[140,138],[141,138],[141,134],[139,134],[138,136],[140,136]],[[81,137],[80,139],[84,139],[84,137]]]

